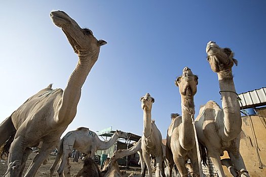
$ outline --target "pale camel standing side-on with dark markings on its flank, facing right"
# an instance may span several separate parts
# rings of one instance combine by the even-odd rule
[[[59,176],[70,176],[69,154],[73,149],[78,150],[90,158],[94,159],[97,150],[110,148],[119,138],[128,138],[128,133],[117,130],[108,141],[101,141],[94,131],[86,127],[79,127],[77,130],[69,131],[60,142],[60,150],[50,168],[50,176],[53,176],[55,167],[61,158],[60,166],[57,170]],[[68,164],[68,165],[67,165]]]

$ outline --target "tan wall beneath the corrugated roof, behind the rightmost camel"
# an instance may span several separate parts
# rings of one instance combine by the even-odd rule
[[[249,175],[262,177],[266,176],[266,108],[257,110],[257,112],[261,116],[252,115],[242,117],[243,131],[241,132],[240,153],[249,171]],[[253,129],[254,133],[252,133]],[[228,154],[225,152],[222,158],[228,158]],[[225,167],[223,169],[226,176],[232,176]]]

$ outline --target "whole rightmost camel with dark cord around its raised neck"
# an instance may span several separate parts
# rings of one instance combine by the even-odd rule
[[[242,120],[232,74],[237,60],[231,49],[220,48],[214,41],[207,43],[206,53],[212,71],[218,75],[222,109],[214,101],[200,108],[195,121],[198,140],[207,148],[219,176],[225,176],[220,161],[223,151],[228,152],[235,169],[241,171],[239,176],[249,176],[239,152]]]

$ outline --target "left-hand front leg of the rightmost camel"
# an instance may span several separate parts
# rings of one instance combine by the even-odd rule
[[[222,169],[221,160],[220,160],[220,153],[217,150],[208,150],[208,154],[210,159],[219,175],[219,177],[225,177],[224,171]]]

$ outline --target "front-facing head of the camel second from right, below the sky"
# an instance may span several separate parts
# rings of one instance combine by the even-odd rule
[[[188,67],[184,67],[183,74],[176,78],[175,85],[179,87],[182,96],[193,97],[197,93],[198,76]]]

